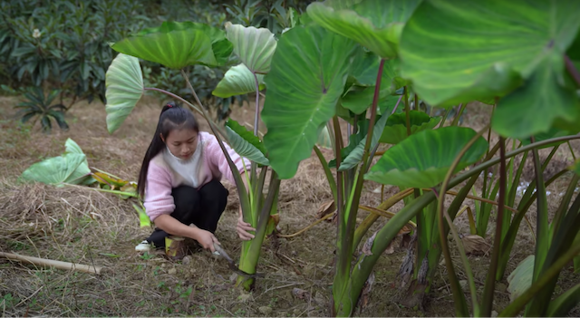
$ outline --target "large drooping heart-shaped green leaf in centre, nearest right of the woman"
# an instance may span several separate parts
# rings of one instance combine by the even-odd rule
[[[320,130],[334,115],[343,92],[354,43],[309,24],[282,34],[266,75],[262,111],[272,168],[292,178],[310,158]]]

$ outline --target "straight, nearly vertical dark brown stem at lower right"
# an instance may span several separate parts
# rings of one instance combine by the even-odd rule
[[[506,203],[506,140],[499,137],[499,194],[498,194],[498,217],[496,235],[494,237],[491,264],[488,269],[488,276],[483,291],[483,301],[481,303],[482,316],[490,317],[493,309],[493,294],[496,284],[496,272],[498,271],[499,252],[501,247],[501,227],[503,226],[504,207]]]

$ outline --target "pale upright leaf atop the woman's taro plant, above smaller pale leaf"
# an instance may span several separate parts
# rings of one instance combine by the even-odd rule
[[[275,52],[274,34],[266,28],[226,24],[227,40],[234,46],[234,53],[246,64],[250,72],[270,72],[272,55]]]

